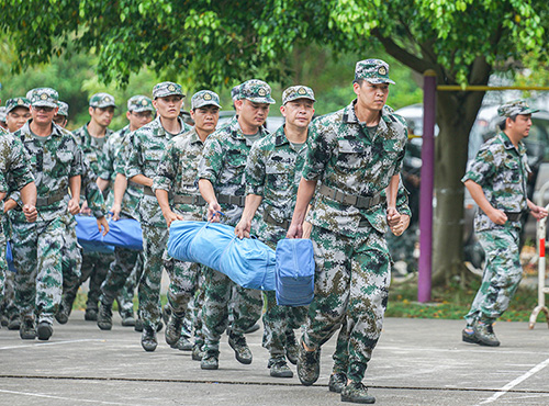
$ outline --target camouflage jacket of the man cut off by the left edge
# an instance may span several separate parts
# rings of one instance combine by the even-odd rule
[[[0,192],[21,190],[33,181],[21,139],[0,128]]]

